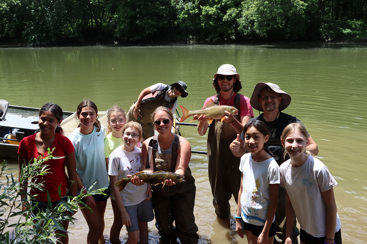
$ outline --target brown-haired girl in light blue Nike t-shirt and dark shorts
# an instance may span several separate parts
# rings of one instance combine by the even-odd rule
[[[98,241],[104,243],[104,216],[107,199],[110,196],[103,142],[105,128],[98,120],[97,106],[90,100],[84,100],[78,105],[75,118],[80,123],[69,135],[69,139],[74,145],[77,160],[78,190],[87,193],[87,189],[94,183],[92,190],[106,188],[104,191],[106,195],[96,194],[84,198],[84,202],[90,207],[81,209],[89,227],[87,243],[98,244]]]

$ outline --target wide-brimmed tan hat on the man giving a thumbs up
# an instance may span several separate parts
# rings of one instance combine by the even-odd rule
[[[279,105],[279,111],[286,109],[289,104],[291,103],[291,96],[286,93],[285,91],[280,90],[280,87],[274,83],[264,83],[264,82],[259,82],[256,84],[254,92],[251,95],[251,99],[250,99],[250,104],[252,106],[252,108],[259,110],[261,112],[264,112],[264,109],[262,109],[262,106],[259,103],[259,96],[260,96],[260,92],[262,89],[264,89],[264,87],[269,86],[270,89],[272,89],[273,91],[275,91],[276,93],[279,93],[282,97],[281,100],[281,104]]]

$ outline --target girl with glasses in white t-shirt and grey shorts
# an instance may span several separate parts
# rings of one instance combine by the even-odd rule
[[[150,184],[137,186],[127,184],[119,192],[115,187],[117,181],[142,171],[141,149],[136,145],[141,141],[142,128],[139,123],[131,121],[122,128],[123,144],[109,155],[108,175],[114,199],[111,198],[113,210],[113,225],[110,232],[110,242],[120,244],[120,231],[126,226],[127,244],[148,243],[148,222],[154,218],[152,187]]]

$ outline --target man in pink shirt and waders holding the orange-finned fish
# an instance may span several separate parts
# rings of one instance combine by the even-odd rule
[[[238,109],[238,115],[225,111],[223,121],[213,120],[206,115],[194,115],[199,121],[197,132],[203,136],[208,132],[208,176],[213,195],[213,206],[218,217],[230,215],[229,200],[233,197],[237,203],[241,183],[239,170],[240,158],[235,157],[229,150],[229,144],[240,134],[244,125],[254,117],[250,99],[239,92],[242,89],[240,75],[231,64],[223,64],[214,74],[213,88],[217,95],[208,97],[204,107],[212,105],[229,105]]]

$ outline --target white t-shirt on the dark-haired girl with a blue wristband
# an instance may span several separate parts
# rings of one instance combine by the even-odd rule
[[[269,184],[280,183],[279,166],[274,158],[255,162],[251,153],[246,153],[241,157],[240,171],[243,173],[241,217],[249,224],[263,226],[270,203]]]

